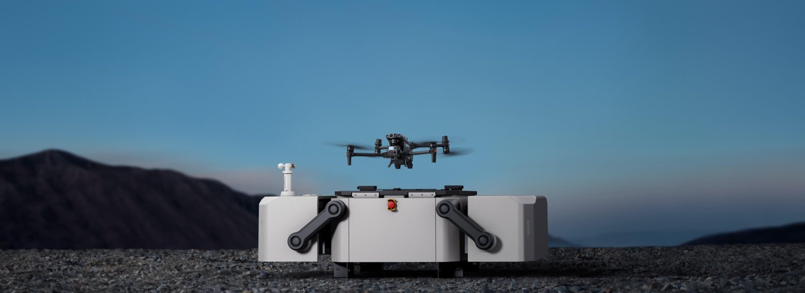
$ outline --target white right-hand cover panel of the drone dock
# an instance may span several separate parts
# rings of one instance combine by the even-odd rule
[[[493,233],[497,244],[479,250],[467,239],[469,262],[529,262],[548,252],[544,196],[469,196],[468,217]]]

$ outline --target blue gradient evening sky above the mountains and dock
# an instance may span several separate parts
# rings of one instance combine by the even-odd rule
[[[0,157],[547,196],[551,233],[805,220],[805,2],[0,2]],[[326,141],[465,138],[346,166]],[[454,147],[459,146],[458,143]]]

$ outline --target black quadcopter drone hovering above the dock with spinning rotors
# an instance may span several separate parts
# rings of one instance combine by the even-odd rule
[[[356,144],[341,144],[334,143],[337,146],[347,147],[347,165],[352,165],[352,157],[374,157],[389,159],[389,165],[394,164],[394,167],[399,169],[400,166],[405,166],[411,169],[414,167],[415,155],[431,155],[431,162],[436,163],[436,148],[441,147],[444,155],[464,155],[464,151],[450,151],[450,141],[448,136],[442,137],[442,142],[410,142],[403,134],[386,134],[386,139],[389,141],[388,146],[383,146],[382,139],[374,140],[374,153],[356,153],[355,150],[368,150],[369,147],[359,146]],[[420,147],[427,147],[427,151],[414,151]]]

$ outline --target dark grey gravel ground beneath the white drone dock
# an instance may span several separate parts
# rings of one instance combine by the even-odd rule
[[[320,262],[257,262],[257,250],[0,250],[0,291],[805,291],[805,244],[551,248],[436,279],[432,263],[333,279]],[[367,275],[368,274],[368,275]]]

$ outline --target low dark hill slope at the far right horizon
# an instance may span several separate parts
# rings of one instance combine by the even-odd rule
[[[755,244],[805,242],[805,222],[778,227],[745,229],[737,232],[713,234],[687,241],[683,246],[703,244]]]

